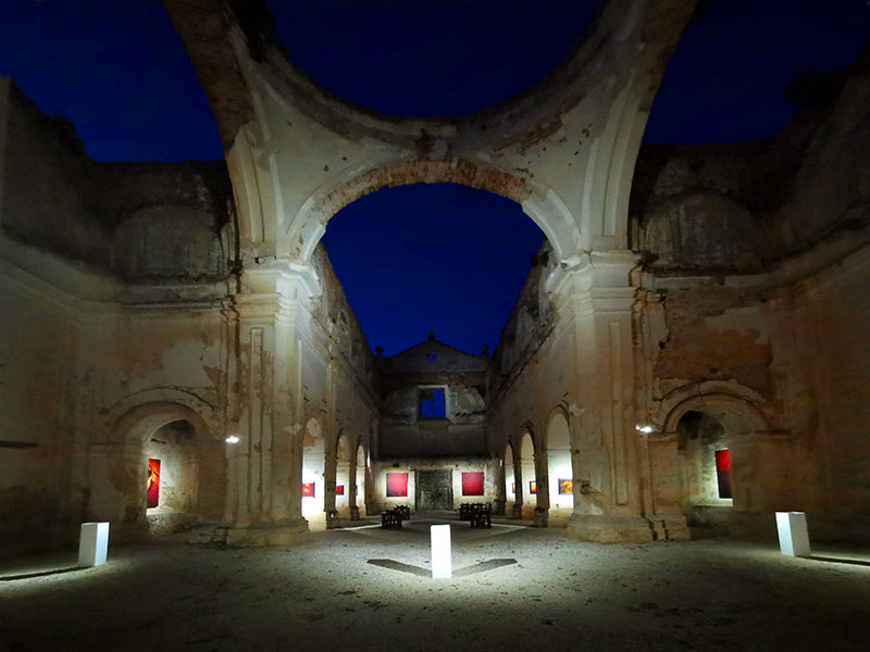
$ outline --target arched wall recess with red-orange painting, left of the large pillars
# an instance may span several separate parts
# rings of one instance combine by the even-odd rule
[[[142,403],[90,447],[88,517],[109,521],[116,542],[189,531],[221,519],[225,478],[224,443],[212,441],[199,412]]]

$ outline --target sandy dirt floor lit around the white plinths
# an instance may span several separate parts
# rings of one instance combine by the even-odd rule
[[[294,547],[112,548],[0,566],[0,651],[870,650],[870,551],[722,539],[601,546],[452,521],[312,532]],[[110,537],[111,539],[111,537]]]

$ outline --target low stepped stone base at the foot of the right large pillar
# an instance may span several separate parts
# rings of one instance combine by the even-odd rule
[[[571,516],[566,534],[577,541],[620,543],[623,541],[657,541],[687,539],[685,518],[675,515],[673,521],[661,516]]]

